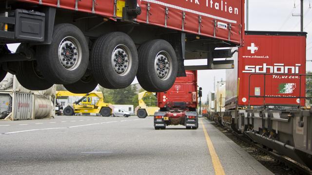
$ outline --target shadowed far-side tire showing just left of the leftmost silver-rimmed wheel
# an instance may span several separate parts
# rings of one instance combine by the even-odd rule
[[[36,61],[20,61],[16,78],[22,87],[29,90],[45,90],[53,86],[42,76]]]

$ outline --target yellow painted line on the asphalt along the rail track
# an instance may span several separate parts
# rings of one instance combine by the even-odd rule
[[[200,120],[200,123],[203,126],[205,138],[206,138],[206,141],[207,141],[208,150],[209,150],[210,157],[211,157],[211,160],[213,162],[214,169],[215,169],[215,175],[225,175],[223,167],[221,165],[221,162],[219,160],[218,155],[215,152],[215,148],[214,148],[213,142],[210,140],[210,137],[209,137],[209,135],[207,133],[205,125],[204,125],[202,120]]]

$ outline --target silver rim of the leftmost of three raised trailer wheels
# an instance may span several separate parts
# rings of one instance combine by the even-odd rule
[[[59,44],[59,62],[66,70],[76,70],[81,62],[82,50],[78,40],[72,36]]]

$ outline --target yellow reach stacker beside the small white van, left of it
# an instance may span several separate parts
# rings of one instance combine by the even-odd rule
[[[56,98],[58,97],[81,97],[72,105],[68,105],[63,109],[63,115],[72,116],[75,114],[90,114],[96,113],[103,117],[109,117],[114,111],[114,106],[104,102],[102,92],[90,92],[83,94],[75,94],[67,90],[57,91]]]

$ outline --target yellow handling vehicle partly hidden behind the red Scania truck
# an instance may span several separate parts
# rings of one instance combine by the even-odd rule
[[[154,116],[154,113],[160,108],[157,106],[147,106],[143,100],[144,97],[150,94],[156,95],[155,92],[143,91],[138,93],[138,106],[135,109],[135,114],[138,118],[145,118],[146,116]]]

